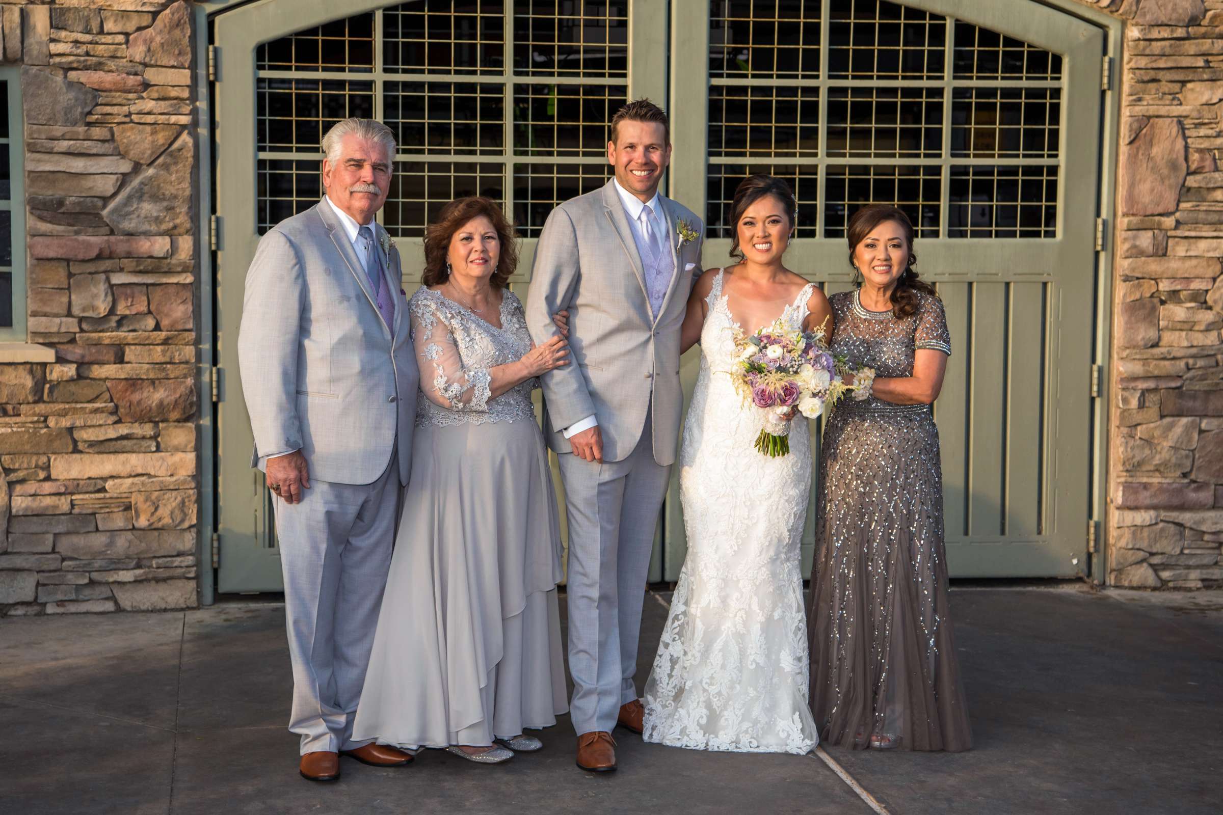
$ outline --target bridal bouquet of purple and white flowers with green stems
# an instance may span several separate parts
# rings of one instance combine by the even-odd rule
[[[764,412],[764,428],[756,437],[756,450],[766,456],[789,455],[790,422],[786,417],[794,409],[813,419],[855,390],[844,381],[845,374],[852,373],[849,364],[828,351],[823,326],[797,331],[778,318],[756,334],[739,337],[736,346],[735,389],[745,401],[751,400]]]

